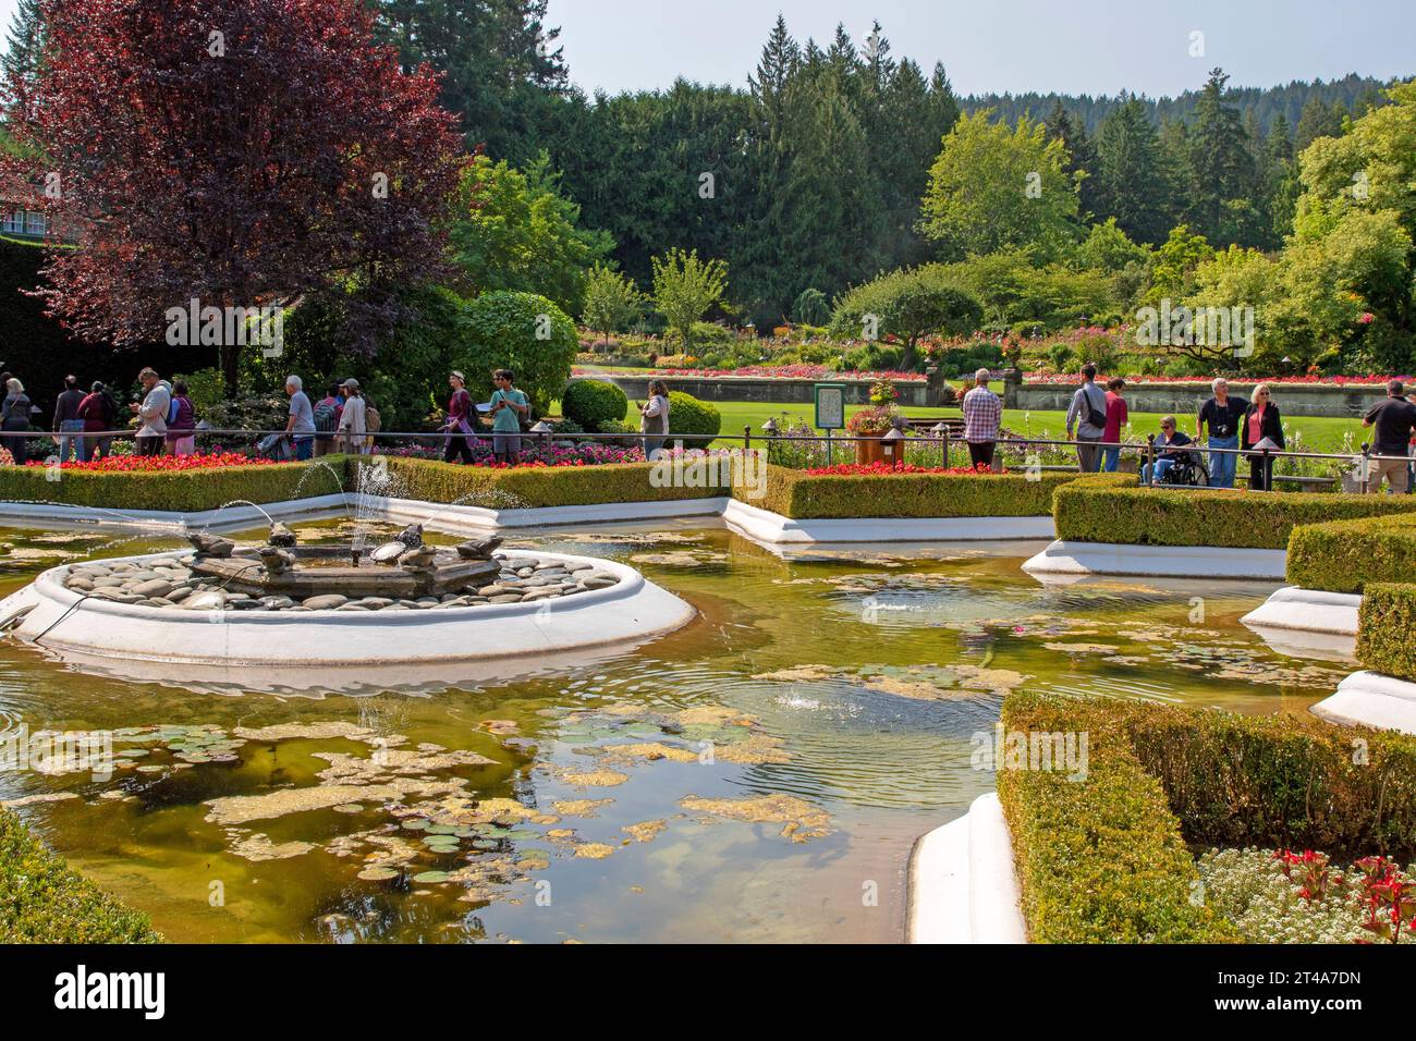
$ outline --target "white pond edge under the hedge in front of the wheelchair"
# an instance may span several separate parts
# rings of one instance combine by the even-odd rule
[[[1240,578],[1281,581],[1284,550],[1216,545],[1123,545],[1058,540],[1029,558],[1029,575],[1137,575],[1144,578]]]

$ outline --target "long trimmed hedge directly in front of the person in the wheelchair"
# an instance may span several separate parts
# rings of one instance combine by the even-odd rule
[[[1058,489],[1058,538],[1121,545],[1221,545],[1283,550],[1300,524],[1416,513],[1416,496],[1317,491],[1195,491],[1102,484]]]

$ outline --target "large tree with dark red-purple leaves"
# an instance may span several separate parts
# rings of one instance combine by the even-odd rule
[[[351,292],[348,347],[443,272],[466,156],[438,75],[399,71],[360,0],[41,0],[35,76],[7,86],[28,186],[76,248],[42,295],[76,334],[159,340],[167,312]],[[169,337],[170,339],[170,337]],[[185,341],[184,341],[185,343]],[[228,392],[235,343],[218,341]]]

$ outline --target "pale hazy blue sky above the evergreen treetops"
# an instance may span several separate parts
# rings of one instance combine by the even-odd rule
[[[0,24],[14,7],[0,0]],[[1413,0],[549,0],[547,23],[571,78],[615,93],[680,75],[742,86],[777,11],[823,44],[844,23],[862,45],[878,20],[893,57],[943,61],[959,93],[1172,96],[1215,65],[1233,86],[1416,75]]]

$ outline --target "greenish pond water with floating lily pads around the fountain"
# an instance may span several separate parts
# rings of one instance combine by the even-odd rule
[[[0,595],[177,545],[0,538]],[[1272,586],[1042,585],[1035,544],[783,559],[695,520],[508,545],[629,562],[700,615],[490,680],[135,680],[0,640],[0,736],[113,731],[116,753],[108,779],[3,772],[0,800],[173,940],[896,942],[910,844],[993,789],[973,738],[1008,690],[1301,712],[1349,671],[1238,623]]]

